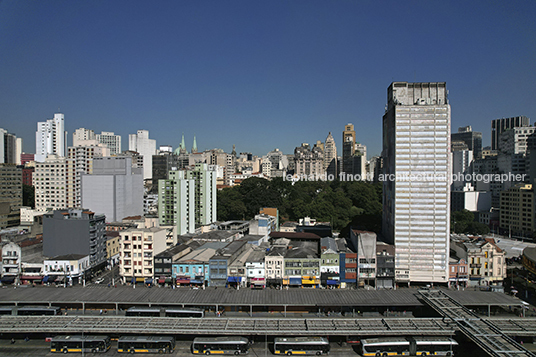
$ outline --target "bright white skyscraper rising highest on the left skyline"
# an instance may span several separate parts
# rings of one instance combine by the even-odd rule
[[[62,113],[55,113],[53,119],[37,123],[35,133],[35,161],[44,162],[47,155],[65,157],[67,152],[67,132]]]

